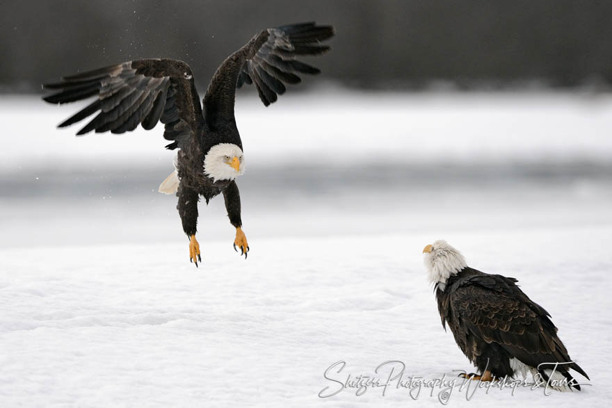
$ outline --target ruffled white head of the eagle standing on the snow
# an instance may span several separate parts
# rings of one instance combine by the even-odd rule
[[[461,252],[442,239],[427,245],[423,253],[429,281],[433,284],[440,284],[442,290],[451,275],[455,275],[467,266]]]

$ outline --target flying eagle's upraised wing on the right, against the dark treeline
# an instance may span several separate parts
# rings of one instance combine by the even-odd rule
[[[259,99],[268,106],[287,90],[285,84],[300,83],[298,74],[319,74],[296,57],[325,53],[330,47],[321,41],[333,35],[332,26],[314,22],[268,28],[255,35],[218,67],[204,97],[207,121],[234,118],[236,87],[244,83],[255,83]]]

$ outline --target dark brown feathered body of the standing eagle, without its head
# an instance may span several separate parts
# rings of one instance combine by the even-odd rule
[[[572,361],[549,313],[516,282],[467,267],[452,275],[444,290],[436,288],[442,325],[448,323],[457,345],[479,370],[486,368],[497,377],[515,375],[512,358],[533,368]],[[570,369],[588,378],[576,363],[557,368],[573,380],[567,373]]]

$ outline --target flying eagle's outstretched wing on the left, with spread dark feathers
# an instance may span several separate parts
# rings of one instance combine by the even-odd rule
[[[173,140],[168,149],[184,147],[191,140],[202,107],[189,66],[178,60],[127,61],[43,85],[56,93],[44,97],[51,104],[65,104],[95,96],[96,99],[58,127],[66,127],[99,112],[77,135],[133,131],[141,124],[153,129],[166,124],[163,137]]]

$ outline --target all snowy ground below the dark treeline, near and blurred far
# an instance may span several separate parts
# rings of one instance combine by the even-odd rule
[[[609,398],[612,97],[238,101],[251,252],[234,252],[214,199],[196,269],[175,197],[156,193],[172,170],[160,129],[74,138],[54,124],[77,107],[0,100],[0,407],[440,405],[439,388],[319,397],[337,361],[342,381],[389,360],[429,380],[472,370],[426,281],[421,250],[438,238],[520,279],[593,380],[456,389],[451,405]]]

